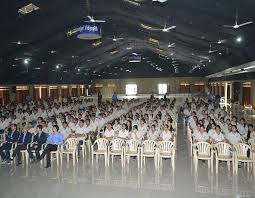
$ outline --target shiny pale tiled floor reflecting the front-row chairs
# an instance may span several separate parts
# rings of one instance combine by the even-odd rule
[[[176,171],[173,174],[169,160],[163,161],[163,170],[155,171],[152,161],[143,170],[131,160],[122,170],[119,159],[109,168],[103,159],[91,167],[89,156],[79,160],[76,168],[65,163],[62,168],[29,166],[0,166],[1,198],[78,198],[78,197],[255,197],[255,178],[243,169],[239,176],[228,175],[221,164],[219,174],[208,173],[207,164],[199,163],[198,175],[193,173],[182,126],[177,138]]]

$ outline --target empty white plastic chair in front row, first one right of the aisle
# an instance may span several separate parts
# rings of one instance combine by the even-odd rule
[[[213,172],[213,154],[212,147],[207,142],[198,142],[194,144],[194,163],[195,171],[197,172],[198,160],[207,160],[208,169]]]

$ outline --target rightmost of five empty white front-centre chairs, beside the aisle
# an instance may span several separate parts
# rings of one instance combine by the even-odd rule
[[[175,146],[173,142],[162,141],[158,143],[158,167],[162,166],[162,159],[171,159],[172,169],[175,171]]]

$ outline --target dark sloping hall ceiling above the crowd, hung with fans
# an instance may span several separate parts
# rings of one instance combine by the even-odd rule
[[[1,5],[1,83],[206,76],[254,61],[255,24],[223,27],[234,24],[236,13],[238,23],[255,22],[254,0],[245,4],[241,0],[136,0],[136,5],[130,1],[135,0],[16,0]],[[31,2],[40,9],[18,14],[19,8]],[[87,15],[106,20],[101,24],[102,39],[67,36]],[[163,28],[165,23],[177,27],[170,32],[141,27]],[[113,42],[114,35],[124,39]],[[243,42],[236,42],[238,36]],[[217,44],[219,39],[226,39],[226,43]],[[169,43],[175,47],[168,48]],[[208,53],[210,45],[218,51]],[[132,53],[141,54],[141,63],[129,63]],[[25,59],[28,64],[24,64]]]

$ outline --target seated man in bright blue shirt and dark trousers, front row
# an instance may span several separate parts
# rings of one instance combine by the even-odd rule
[[[40,156],[40,160],[42,160],[44,156],[46,155],[47,165],[45,168],[49,168],[51,166],[50,152],[56,151],[59,145],[64,144],[64,139],[62,134],[59,132],[58,125],[54,125],[52,130],[53,132],[50,134],[50,136],[47,138],[47,141],[46,141],[47,146],[43,150],[43,153]]]

